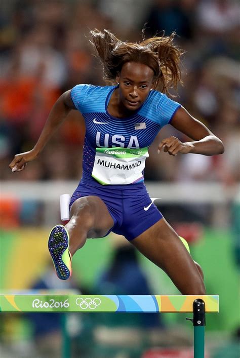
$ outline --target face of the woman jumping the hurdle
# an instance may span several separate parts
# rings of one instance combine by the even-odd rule
[[[132,111],[144,103],[154,85],[153,70],[138,62],[126,62],[116,80],[122,104]]]

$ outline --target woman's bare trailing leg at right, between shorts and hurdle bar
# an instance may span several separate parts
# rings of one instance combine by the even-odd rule
[[[131,243],[162,268],[183,295],[205,295],[203,278],[173,228],[162,218]]]

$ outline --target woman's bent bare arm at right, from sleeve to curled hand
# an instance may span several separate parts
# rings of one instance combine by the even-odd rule
[[[159,143],[158,153],[162,149],[171,155],[176,155],[177,153],[215,155],[224,152],[221,140],[210,132],[203,123],[191,116],[185,108],[180,107],[176,111],[171,125],[193,139],[193,141],[183,143],[178,138],[171,136]]]

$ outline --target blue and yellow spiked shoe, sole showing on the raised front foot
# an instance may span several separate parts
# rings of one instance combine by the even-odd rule
[[[63,225],[52,228],[48,249],[52,256],[57,276],[60,280],[67,280],[71,276],[71,254],[69,252],[69,235]]]

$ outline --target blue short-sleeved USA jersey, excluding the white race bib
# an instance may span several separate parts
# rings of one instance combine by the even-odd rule
[[[84,119],[86,135],[83,150],[82,182],[102,187],[91,175],[96,148],[145,148],[149,147],[161,128],[171,122],[181,106],[165,94],[150,91],[143,105],[127,118],[115,118],[107,111],[116,86],[77,85],[71,90],[71,99]],[[114,189],[143,185],[111,185]]]

